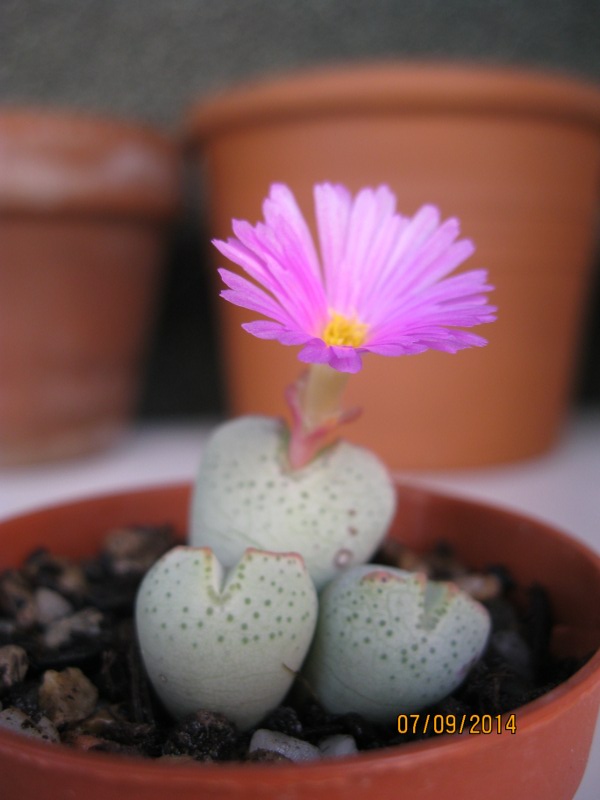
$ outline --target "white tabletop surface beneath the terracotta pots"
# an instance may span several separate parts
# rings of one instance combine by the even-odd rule
[[[0,519],[115,488],[192,480],[211,423],[134,430],[109,452],[63,464],[0,471]],[[548,454],[455,472],[403,473],[411,482],[545,519],[600,552],[600,414],[567,425]],[[576,800],[600,795],[600,723]]]

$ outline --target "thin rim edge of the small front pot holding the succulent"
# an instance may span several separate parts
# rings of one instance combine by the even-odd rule
[[[424,487],[412,485],[401,479],[394,479],[396,487],[403,491],[409,491],[421,495],[423,498],[442,499],[445,502],[461,507],[485,510],[495,515],[510,517],[515,522],[525,525],[534,525],[542,528],[544,535],[550,536],[556,541],[568,543],[569,546],[578,550],[579,553],[595,568],[598,579],[600,580],[600,556],[590,547],[573,538],[571,535],[561,531],[552,525],[535,519],[526,514],[522,514],[513,509],[503,508],[491,503],[446,494],[437,490],[430,490]],[[142,497],[152,494],[155,497],[160,495],[172,495],[178,503],[189,504],[192,491],[192,484],[189,482],[174,482],[168,484],[157,484],[142,487],[132,487],[117,492],[106,491],[93,494],[76,500],[66,500],[52,505],[23,513],[15,514],[10,518],[0,521],[0,540],[5,526],[10,526],[18,522],[20,525],[28,526],[36,522],[36,518],[44,517],[48,512],[60,513],[74,510],[85,513],[88,506],[98,502],[125,503],[138,501]],[[186,505],[187,507],[187,505]],[[502,716],[506,718],[512,713],[517,716],[517,728],[527,724],[530,734],[536,728],[544,726],[552,717],[558,713],[557,703],[568,702],[570,697],[575,694],[592,694],[600,682],[600,649],[570,678],[556,686],[549,692],[541,695],[535,700],[510,711]],[[495,716],[495,715],[494,715]],[[517,734],[518,735],[518,730]],[[269,777],[271,783],[281,783],[282,786],[289,785],[290,781],[295,783],[322,780],[336,780],[347,783],[352,778],[364,775],[368,770],[385,771],[386,769],[397,769],[398,761],[418,765],[425,768],[429,761],[435,759],[436,751],[440,749],[450,749],[451,754],[465,754],[467,752],[478,752],[481,748],[493,747],[493,736],[440,736],[428,740],[415,741],[402,745],[400,748],[382,748],[374,751],[363,751],[356,755],[337,759],[327,759],[317,762],[306,762],[302,764],[252,764],[239,762],[225,762],[216,764],[169,764],[156,762],[155,760],[133,758],[126,755],[112,755],[108,753],[88,753],[69,749],[63,745],[52,746],[47,743],[29,739],[20,734],[8,730],[0,729],[0,750],[15,763],[24,762],[36,764],[43,767],[44,764],[52,763],[54,768],[62,769],[77,774],[85,774],[90,779],[96,774],[105,777],[107,768],[111,773],[121,773],[121,777],[131,784],[142,784],[153,781],[159,774],[165,776],[175,787],[177,783],[181,785],[194,784],[201,780],[203,785],[223,785],[227,779],[227,773],[232,774],[232,780],[245,776],[261,781]]]

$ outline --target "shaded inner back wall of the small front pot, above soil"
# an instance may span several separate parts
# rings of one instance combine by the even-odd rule
[[[0,569],[33,550],[74,558],[93,555],[107,530],[120,525],[170,524],[187,530],[191,487],[174,485],[95,497],[0,524]],[[576,539],[514,512],[398,484],[391,537],[424,551],[440,541],[478,569],[504,565],[525,586],[538,583],[551,598],[560,655],[600,648],[600,557]]]

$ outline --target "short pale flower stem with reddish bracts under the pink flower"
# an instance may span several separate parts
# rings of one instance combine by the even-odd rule
[[[328,444],[337,429],[359,415],[357,408],[344,411],[342,395],[348,373],[326,364],[311,364],[287,390],[292,411],[288,460],[292,469],[301,469]]]

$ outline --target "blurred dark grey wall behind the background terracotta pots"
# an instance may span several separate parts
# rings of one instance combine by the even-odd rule
[[[600,82],[600,0],[0,0],[0,104],[107,112],[166,130],[193,101],[242,80],[373,57],[533,66]],[[221,408],[192,215],[172,237],[145,415]],[[579,402],[600,403],[599,284]]]

